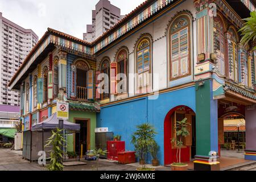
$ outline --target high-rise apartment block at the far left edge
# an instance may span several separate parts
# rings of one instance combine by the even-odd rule
[[[0,104],[19,105],[19,93],[7,87],[23,60],[38,42],[31,29],[25,29],[0,13]]]

